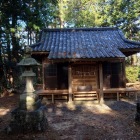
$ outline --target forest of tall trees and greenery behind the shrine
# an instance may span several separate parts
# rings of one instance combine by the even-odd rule
[[[140,41],[140,0],[1,0],[0,90],[20,86],[17,63],[41,29],[72,27],[118,27]],[[126,59],[129,82],[138,80],[139,62]]]

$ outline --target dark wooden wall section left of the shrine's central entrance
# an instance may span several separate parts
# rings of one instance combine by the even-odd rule
[[[68,89],[68,64],[44,63],[45,89]]]

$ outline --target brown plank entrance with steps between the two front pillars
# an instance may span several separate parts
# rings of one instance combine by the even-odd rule
[[[72,66],[73,100],[98,100],[98,65],[83,64]]]

